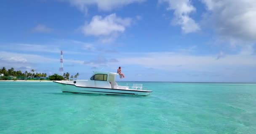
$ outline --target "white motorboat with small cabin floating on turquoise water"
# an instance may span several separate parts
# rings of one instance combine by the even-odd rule
[[[142,84],[120,86],[115,82],[115,72],[93,72],[89,80],[71,80],[68,82],[53,81],[61,86],[63,93],[88,93],[107,95],[149,95],[152,91],[145,90]]]

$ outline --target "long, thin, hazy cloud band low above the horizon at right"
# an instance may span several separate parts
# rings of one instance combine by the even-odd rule
[[[249,49],[250,50],[250,49]],[[208,71],[218,70],[224,67],[255,67],[256,55],[251,55],[249,51],[239,54],[221,54],[221,58],[216,60],[215,55],[197,56],[177,52],[155,52],[140,54],[140,57],[120,57],[119,64],[137,64],[143,67],[153,67],[160,70],[190,70]]]

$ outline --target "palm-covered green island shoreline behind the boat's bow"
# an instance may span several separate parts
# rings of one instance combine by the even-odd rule
[[[14,70],[13,67],[10,69],[6,69],[5,67],[0,68],[0,80],[72,80],[73,78],[76,80],[79,76],[77,72],[74,76],[71,75],[69,79],[69,72],[64,73],[62,76],[58,74],[49,75],[47,77],[46,73],[35,72],[34,69],[31,69],[29,72],[22,72],[21,70]]]

